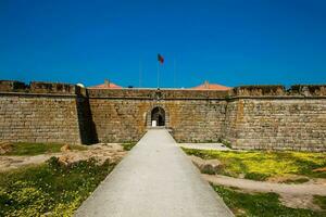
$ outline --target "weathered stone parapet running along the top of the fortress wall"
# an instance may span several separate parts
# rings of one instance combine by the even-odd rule
[[[37,94],[77,94],[88,98],[145,99],[145,100],[212,100],[242,97],[326,97],[326,85],[293,85],[286,89],[281,85],[239,86],[231,90],[191,89],[91,89],[64,82],[32,81],[26,85],[17,80],[0,80],[0,92]]]

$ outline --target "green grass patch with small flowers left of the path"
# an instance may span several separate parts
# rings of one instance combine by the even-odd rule
[[[63,166],[47,163],[0,174],[0,216],[72,216],[114,168],[95,159]]]

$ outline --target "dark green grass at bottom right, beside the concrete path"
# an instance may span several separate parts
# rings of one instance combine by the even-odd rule
[[[325,216],[326,212],[313,212],[303,208],[289,208],[279,202],[276,193],[243,193],[237,190],[212,186],[213,189],[224,200],[226,205],[236,216],[296,216],[296,217],[318,217]]]

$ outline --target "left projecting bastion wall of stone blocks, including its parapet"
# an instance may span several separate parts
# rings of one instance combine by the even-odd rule
[[[0,140],[79,143],[74,86],[46,93],[38,85],[0,84]]]

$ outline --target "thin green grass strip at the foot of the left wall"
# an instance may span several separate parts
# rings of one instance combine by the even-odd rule
[[[63,146],[64,144],[60,144],[60,143],[33,143],[33,142],[16,142],[16,143],[12,143],[12,150],[9,153],[5,153],[3,155],[17,155],[17,156],[22,156],[22,155],[38,155],[38,154],[46,154],[46,153],[55,153],[55,152],[60,152],[60,149]],[[86,146],[82,146],[82,145],[71,145],[70,148],[72,150],[87,150]]]

